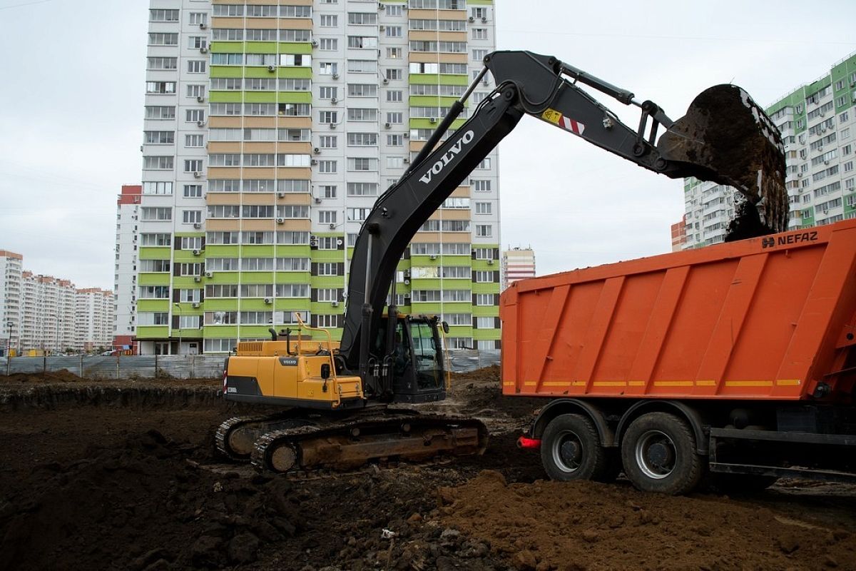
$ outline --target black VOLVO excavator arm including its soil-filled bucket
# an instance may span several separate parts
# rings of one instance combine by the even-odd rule
[[[781,138],[764,111],[739,87],[711,87],[693,102],[696,106],[691,105],[687,116],[673,122],[657,104],[639,103],[633,93],[555,57],[528,51],[496,51],[484,58],[484,66],[401,180],[377,200],[354,245],[340,363],[343,369],[358,372],[366,390],[375,395],[389,393],[385,386],[388,381],[372,374],[369,363],[372,340],[383,321],[383,306],[387,304],[399,259],[422,224],[524,115],[535,116],[671,178],[695,176],[738,187],[750,204],[766,204],[767,213],[776,213],[776,219],[768,216],[764,221],[763,230],[767,232],[782,230],[782,223],[787,223]],[[493,74],[496,89],[467,122],[439,144],[487,71]],[[591,86],[622,104],[638,106],[639,127],[623,124],[577,83]],[[705,93],[707,98],[696,104]],[[728,108],[728,117],[716,115],[723,107]],[[732,128],[736,125],[740,141],[728,137],[718,120],[728,122]],[[657,140],[661,126],[665,133]],[[713,140],[708,135],[715,130],[718,139]],[[748,158],[732,168],[722,157],[738,143]],[[391,305],[389,316],[395,315],[395,306]]]

